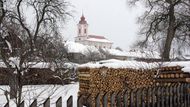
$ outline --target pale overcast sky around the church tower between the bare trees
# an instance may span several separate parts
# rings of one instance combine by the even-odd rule
[[[77,24],[82,13],[89,24],[89,34],[102,35],[114,43],[114,47],[129,50],[137,38],[137,16],[143,12],[140,5],[129,7],[126,0],[69,0],[74,6],[74,18],[63,29],[64,38],[74,41]]]

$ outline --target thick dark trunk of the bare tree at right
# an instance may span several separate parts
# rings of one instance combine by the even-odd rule
[[[174,5],[170,4],[170,8],[169,8],[169,26],[168,26],[168,32],[167,32],[165,45],[164,45],[164,51],[162,53],[162,59],[164,61],[169,61],[170,60],[170,51],[171,51],[171,45],[172,45],[174,35],[175,35]]]

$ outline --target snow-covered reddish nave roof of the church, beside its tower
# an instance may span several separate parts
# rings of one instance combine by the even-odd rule
[[[88,35],[87,38],[88,41],[93,41],[93,42],[105,42],[105,43],[112,43],[108,39],[106,39],[104,36],[97,36],[97,35]]]

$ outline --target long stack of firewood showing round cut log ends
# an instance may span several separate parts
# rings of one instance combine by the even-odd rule
[[[92,96],[101,92],[119,92],[152,86],[155,70],[128,68],[79,68],[79,94]]]

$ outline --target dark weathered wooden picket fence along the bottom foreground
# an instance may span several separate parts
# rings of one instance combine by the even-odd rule
[[[91,95],[80,95],[77,105],[78,107],[190,107],[189,89],[190,84],[180,83],[125,92],[99,93],[95,99],[92,99]],[[51,99],[47,98],[43,103],[44,107],[50,107],[50,101]],[[56,107],[63,107],[62,97],[55,103]],[[67,107],[73,107],[73,103],[73,97],[70,96]],[[9,104],[4,107],[9,107]],[[24,107],[24,101],[20,107]],[[37,99],[30,104],[30,107],[37,107]]]

